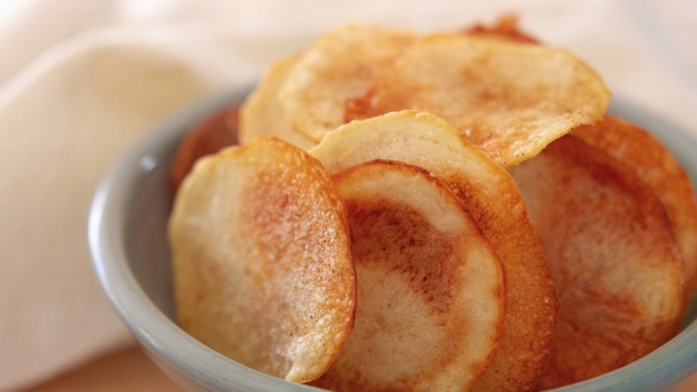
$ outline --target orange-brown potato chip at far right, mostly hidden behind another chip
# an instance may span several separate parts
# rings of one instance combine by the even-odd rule
[[[606,116],[600,123],[577,128],[572,136],[632,168],[661,200],[684,256],[684,303],[689,304],[697,288],[697,201],[687,173],[661,142],[619,118]]]

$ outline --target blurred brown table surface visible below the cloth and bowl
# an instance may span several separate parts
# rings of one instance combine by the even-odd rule
[[[171,382],[139,347],[107,354],[84,366],[60,375],[26,392],[120,392],[183,391]],[[684,380],[672,392],[697,391],[697,373]]]

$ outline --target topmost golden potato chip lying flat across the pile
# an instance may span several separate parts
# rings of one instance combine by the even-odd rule
[[[598,75],[566,50],[466,34],[424,38],[383,71],[355,118],[429,111],[503,166],[602,119],[610,98]]]

